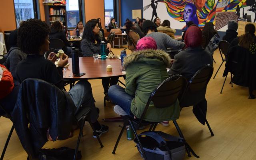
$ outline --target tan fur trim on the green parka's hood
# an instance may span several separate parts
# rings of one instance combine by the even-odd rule
[[[171,58],[170,56],[164,52],[163,50],[142,50],[132,52],[132,54],[128,55],[124,58],[124,68],[127,68],[132,62],[148,62],[150,64],[154,64],[158,62],[162,62],[166,68],[170,67]]]

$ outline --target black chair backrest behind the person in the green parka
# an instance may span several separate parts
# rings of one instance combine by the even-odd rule
[[[169,107],[182,96],[184,90],[186,89],[186,86],[186,78],[178,74],[167,78],[161,84],[159,84],[148,98],[148,102],[145,106],[142,116],[140,117],[140,123],[146,115],[151,101],[154,103],[154,106],[156,108]]]

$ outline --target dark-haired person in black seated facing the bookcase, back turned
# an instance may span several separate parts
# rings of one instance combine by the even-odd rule
[[[49,34],[49,39],[51,38],[58,38],[64,42],[67,48],[67,53],[71,53],[71,47],[68,42],[68,39],[66,38],[66,33],[63,31],[62,22],[56,21],[52,23],[51,26],[51,32]]]

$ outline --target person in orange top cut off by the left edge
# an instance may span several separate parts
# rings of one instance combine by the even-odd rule
[[[9,113],[12,112],[19,91],[19,85],[14,85],[11,72],[4,65],[0,64],[0,105]],[[0,108],[0,116],[6,114]]]

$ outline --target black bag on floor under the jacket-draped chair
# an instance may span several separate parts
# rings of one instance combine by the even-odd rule
[[[39,160],[73,160],[75,150],[68,147],[41,149],[39,152]],[[77,152],[76,160],[82,158],[81,151]]]

